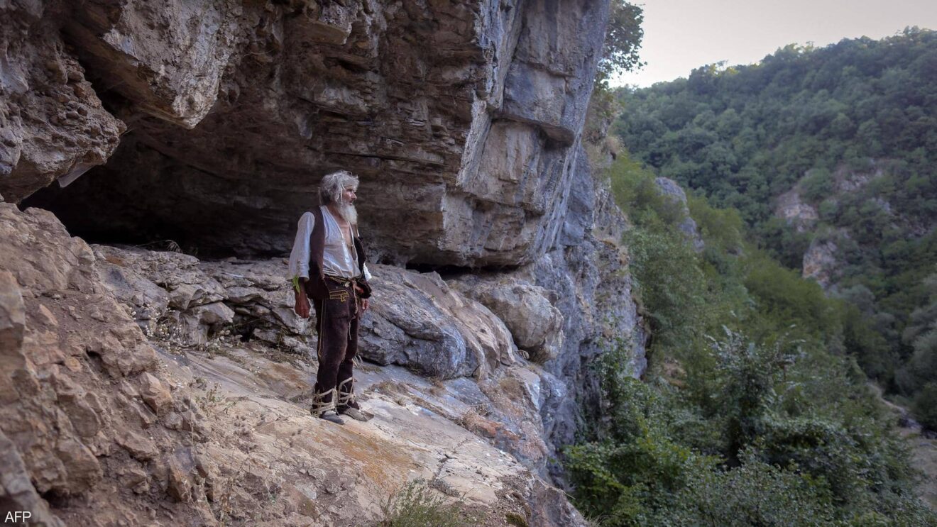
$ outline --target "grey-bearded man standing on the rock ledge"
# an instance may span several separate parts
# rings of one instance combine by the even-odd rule
[[[319,332],[319,373],[310,412],[339,424],[344,424],[339,415],[360,421],[371,417],[355,401],[351,372],[358,322],[371,296],[354,208],[357,190],[358,178],[346,170],[322,178],[322,205],[300,217],[290,253],[293,309],[308,318],[312,300]]]

